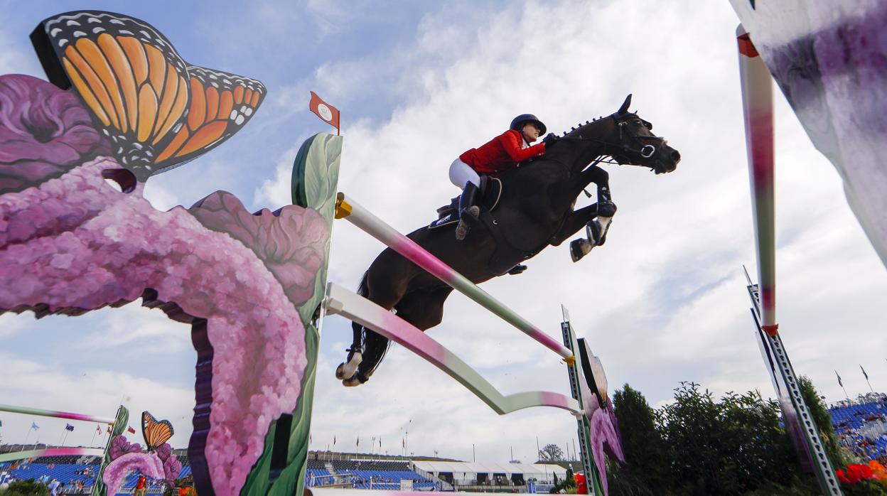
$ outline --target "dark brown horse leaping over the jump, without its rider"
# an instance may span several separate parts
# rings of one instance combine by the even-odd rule
[[[614,114],[586,121],[546,146],[546,154],[498,176],[498,206],[493,212],[483,210],[464,240],[456,240],[450,229],[428,226],[407,237],[479,284],[505,274],[549,245],[560,245],[596,217],[608,224],[616,204],[600,161],[609,157],[610,163],[648,167],[656,174],[673,171],[680,161],[678,151],[651,132],[650,122],[628,111],[631,102],[628,95]],[[597,202],[574,211],[577,197],[591,183],[597,185]],[[574,261],[585,253],[573,256]],[[425,331],[440,324],[451,291],[440,279],[386,248],[365,272],[357,294]],[[357,322],[352,329],[349,354],[336,368],[336,377],[349,387],[369,380],[389,348],[389,339],[373,330]]]

